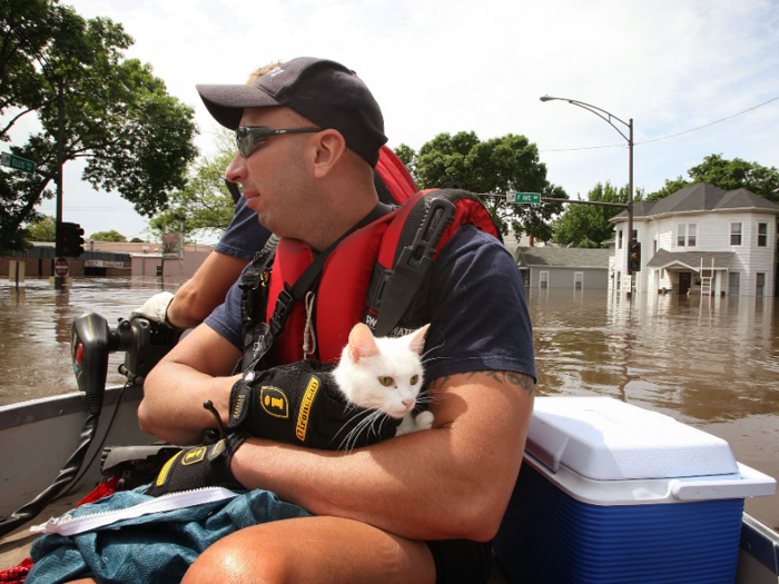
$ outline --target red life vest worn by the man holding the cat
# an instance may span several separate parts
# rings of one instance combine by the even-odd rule
[[[304,358],[317,358],[323,363],[338,360],[348,342],[352,327],[367,320],[372,313],[366,311],[366,299],[374,274],[394,267],[404,226],[415,206],[418,210],[418,205],[425,205],[426,201],[422,200],[424,197],[451,198],[456,208],[454,220],[444,231],[436,246],[436,253],[441,251],[464,224],[473,224],[500,239],[490,214],[470,194],[457,190],[417,192],[401,208],[346,237],[327,258],[316,290],[315,308],[312,311],[317,343],[316,357],[303,354],[307,316],[305,303],[298,301],[286,321],[284,333],[274,342],[270,363],[283,365]],[[413,227],[415,231],[416,226]],[[282,238],[278,241],[270,274],[268,307],[276,306],[276,299],[284,289],[285,283],[289,286],[294,285],[313,259],[308,245],[294,239]],[[379,270],[376,270],[376,264]],[[373,316],[375,318],[376,314],[373,313]],[[270,317],[272,314],[268,310],[266,321],[269,323]]]

